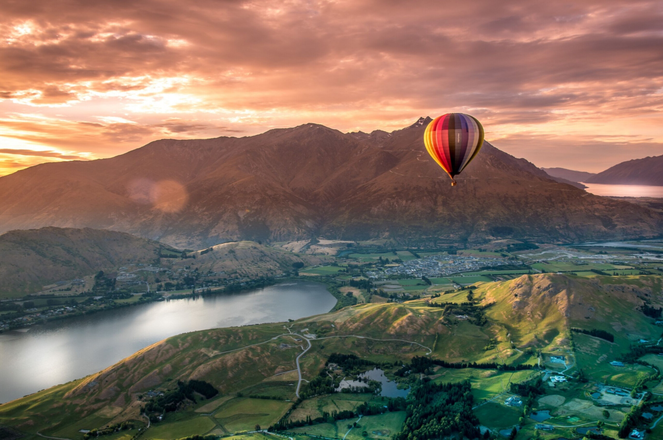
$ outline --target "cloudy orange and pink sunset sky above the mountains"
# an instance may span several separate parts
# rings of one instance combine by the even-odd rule
[[[0,175],[453,111],[537,166],[663,154],[663,2],[0,2]]]

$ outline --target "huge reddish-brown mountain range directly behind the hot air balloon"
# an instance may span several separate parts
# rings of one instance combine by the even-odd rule
[[[40,164],[0,178],[0,231],[107,228],[194,248],[318,236],[569,242],[662,231],[659,213],[554,182],[488,142],[452,187],[422,144],[428,121],[386,134],[305,124],[164,139],[114,158]]]

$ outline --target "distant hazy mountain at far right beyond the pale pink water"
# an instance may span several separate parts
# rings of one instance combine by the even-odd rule
[[[663,155],[627,160],[586,181],[588,184],[663,186]]]

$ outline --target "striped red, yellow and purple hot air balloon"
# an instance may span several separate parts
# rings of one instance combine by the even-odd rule
[[[452,186],[455,186],[453,177],[460,174],[481,150],[483,127],[473,116],[447,113],[428,124],[424,144],[428,154],[449,174]]]

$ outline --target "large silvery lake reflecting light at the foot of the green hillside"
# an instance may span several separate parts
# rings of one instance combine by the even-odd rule
[[[188,331],[287,321],[335,305],[323,284],[296,281],[206,298],[139,304],[0,335],[0,403],[88,374]]]

